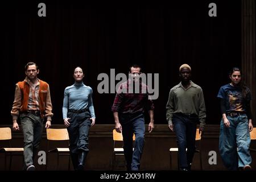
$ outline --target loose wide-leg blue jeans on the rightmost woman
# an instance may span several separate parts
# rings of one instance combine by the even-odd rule
[[[224,126],[223,119],[220,125],[220,155],[226,168],[237,170],[251,163],[248,120],[246,114],[227,118],[230,127]]]

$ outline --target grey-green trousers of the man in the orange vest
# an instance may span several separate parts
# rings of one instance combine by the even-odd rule
[[[34,163],[36,151],[42,138],[42,118],[32,113],[20,114],[20,123],[24,136],[24,165],[23,169]]]

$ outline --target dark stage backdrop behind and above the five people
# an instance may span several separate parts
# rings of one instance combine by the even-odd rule
[[[38,16],[38,3],[47,16]],[[210,2],[217,17],[208,16]],[[131,64],[145,73],[159,73],[155,123],[166,122],[170,89],[179,83],[179,66],[191,65],[192,81],[204,91],[207,123],[220,122],[216,98],[229,80],[228,70],[241,65],[241,2],[82,3],[35,1],[1,3],[1,123],[11,123],[15,83],[24,79],[24,65],[35,61],[39,78],[51,89],[53,123],[63,123],[66,86],[73,84],[76,65],[93,88],[96,122],[114,123],[115,94],[99,94],[99,73],[127,73]],[[147,121],[148,122],[148,121]]]

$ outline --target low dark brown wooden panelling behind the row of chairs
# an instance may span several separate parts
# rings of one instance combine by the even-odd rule
[[[10,125],[0,125],[0,127],[11,127]],[[53,125],[52,128],[63,128],[63,125]],[[89,133],[89,154],[86,158],[86,169],[88,170],[111,170],[112,169],[112,156],[113,156],[113,139],[112,130],[114,125],[96,125],[90,129]],[[147,129],[147,125],[146,125]],[[221,162],[218,151],[218,125],[208,125],[205,128],[204,136],[201,139],[201,155],[203,170],[225,170]],[[23,147],[23,134],[21,131],[13,132],[13,139],[11,141],[13,147]],[[0,147],[3,147],[3,142],[0,142]],[[52,143],[51,146],[65,147],[66,143]],[[47,151],[46,131],[44,129],[43,138],[39,150]],[[170,166],[170,147],[176,147],[175,133],[168,129],[167,125],[155,125],[152,133],[146,132],[146,139],[144,151],[142,155],[141,170],[177,170],[177,154],[172,154],[172,166]],[[256,146],[254,141],[251,146]],[[215,151],[217,154],[217,164],[209,164],[209,152]],[[252,167],[255,169],[256,155],[251,154],[253,158]],[[48,156],[48,170],[55,170],[57,158],[56,154]],[[9,158],[7,158],[9,160]],[[114,169],[123,170],[123,156],[118,156],[118,166]],[[0,170],[4,169],[4,155],[0,154]],[[195,154],[192,169],[200,170],[199,154]],[[35,166],[37,170],[44,170],[45,165],[39,165],[36,159]],[[72,166],[72,165],[71,165]],[[172,168],[171,168],[172,167]],[[11,170],[22,169],[22,156],[13,156]],[[60,170],[68,169],[67,156],[60,158]],[[71,167],[72,169],[72,167]]]

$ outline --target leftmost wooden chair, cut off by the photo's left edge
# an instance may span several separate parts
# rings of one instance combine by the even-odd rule
[[[0,152],[5,153],[5,170],[6,170],[6,156],[10,156],[9,170],[11,170],[11,162],[14,155],[22,155],[24,148],[13,148],[11,147],[11,129],[10,127],[0,128],[0,140],[6,140],[9,143],[8,148],[0,148]]]

